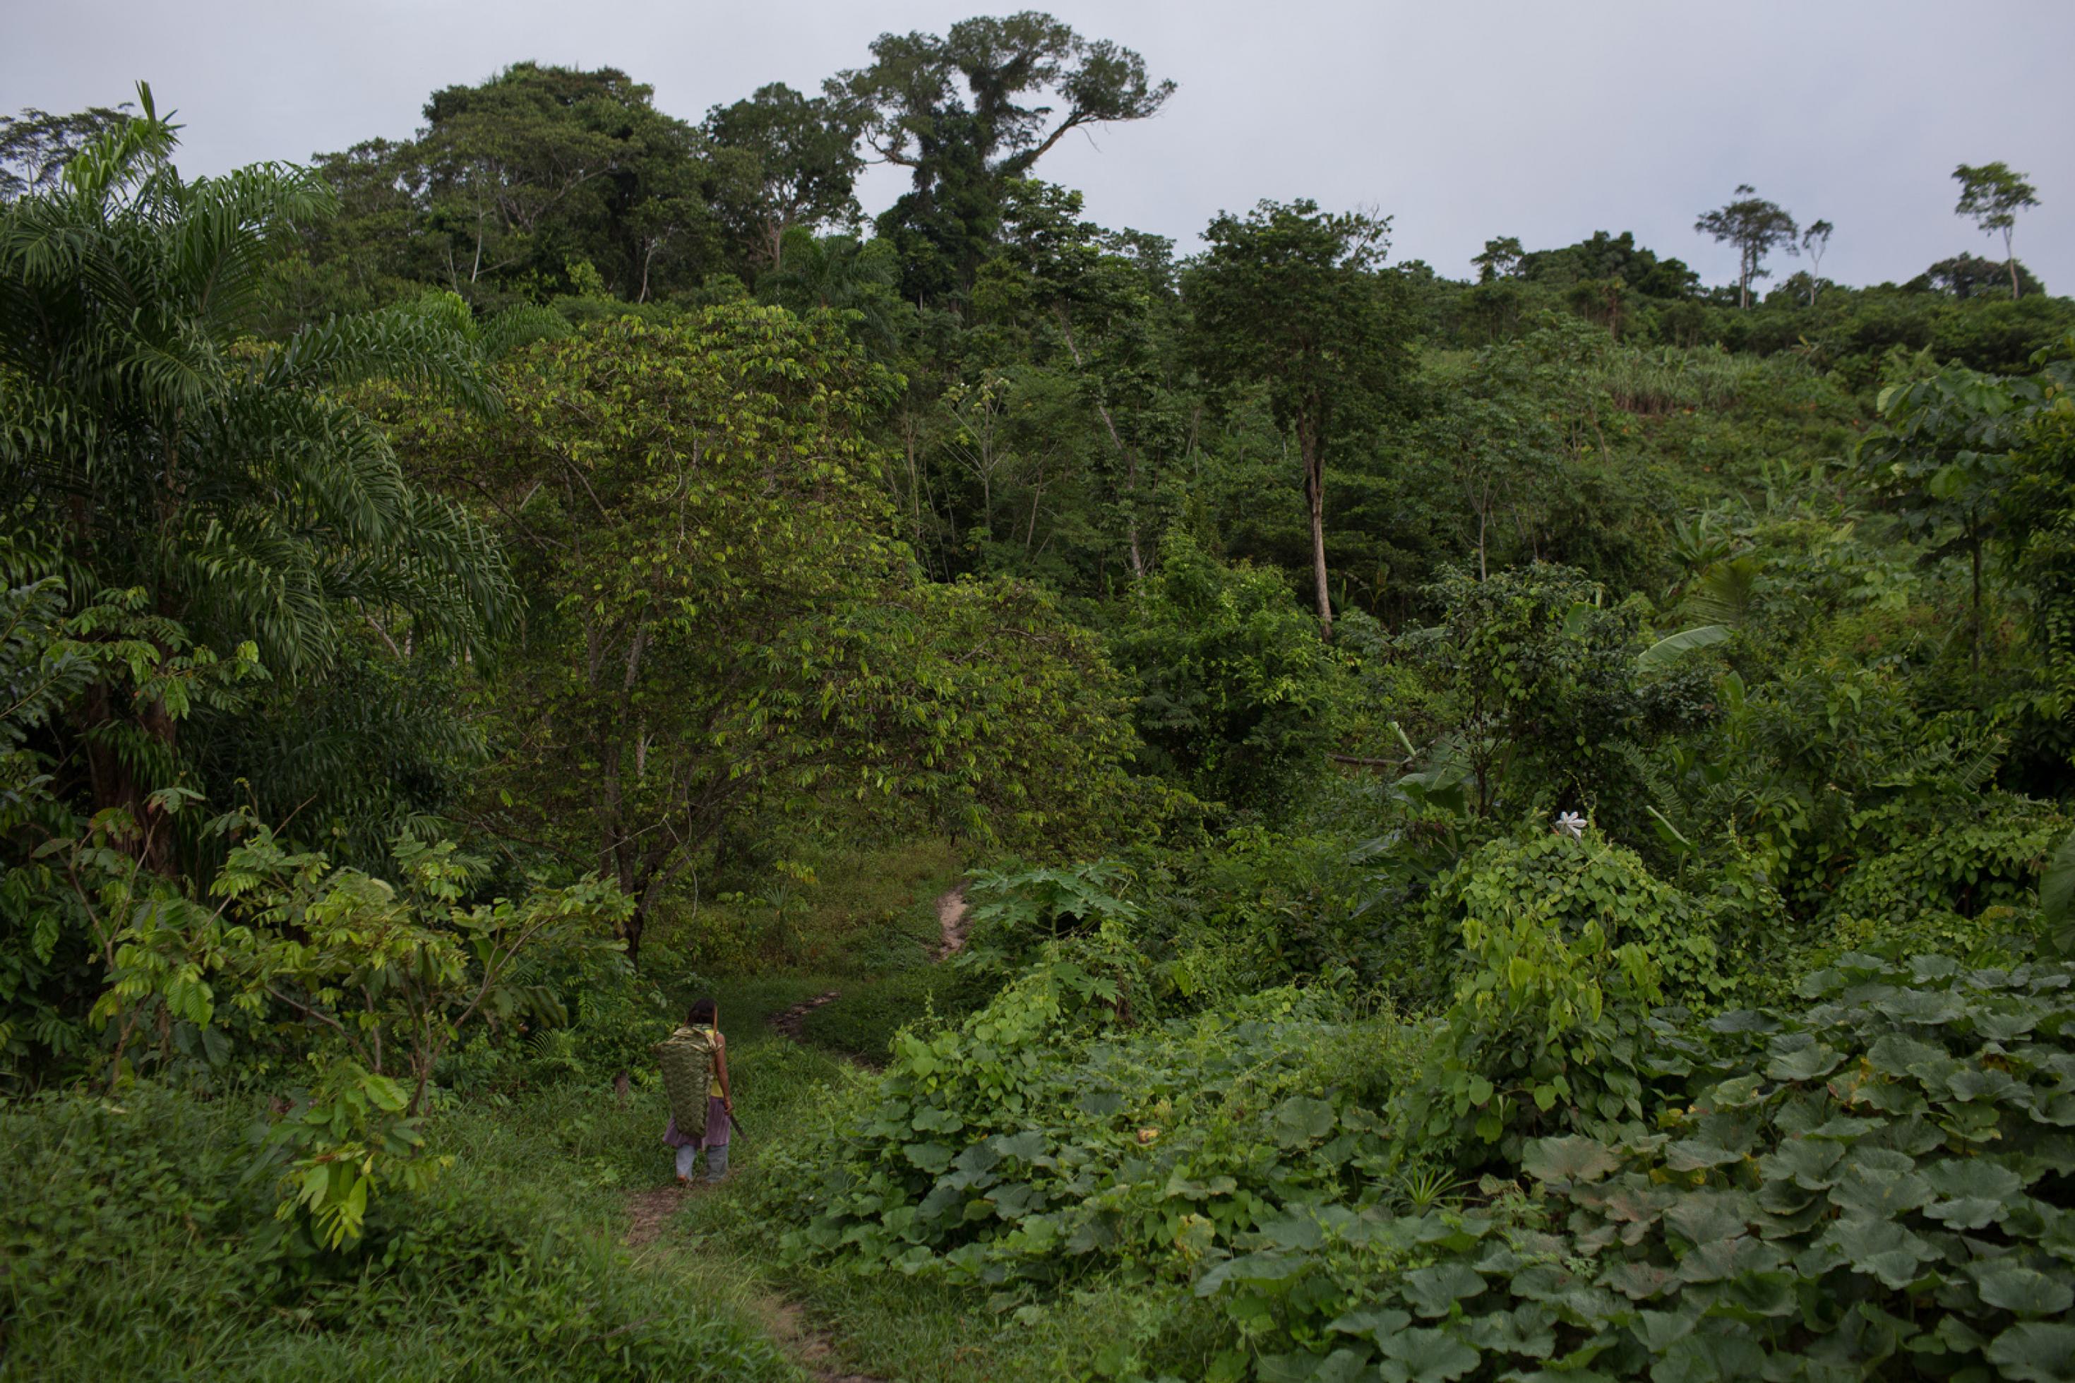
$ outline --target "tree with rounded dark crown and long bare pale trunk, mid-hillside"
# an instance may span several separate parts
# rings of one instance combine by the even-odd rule
[[[1388,234],[1390,218],[1262,201],[1245,216],[1220,214],[1204,232],[1210,249],[1183,278],[1204,373],[1264,384],[1276,423],[1297,440],[1328,639],[1326,452],[1336,427],[1388,404],[1411,371],[1403,290],[1378,272]]]

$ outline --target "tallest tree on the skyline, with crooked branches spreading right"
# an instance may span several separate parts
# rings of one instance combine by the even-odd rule
[[[1027,176],[1071,131],[1143,120],[1174,93],[1139,54],[1038,10],[965,19],[944,37],[882,33],[872,58],[826,89],[876,158],[913,172],[913,191],[880,218],[901,243],[909,297],[971,286],[1006,178]]]

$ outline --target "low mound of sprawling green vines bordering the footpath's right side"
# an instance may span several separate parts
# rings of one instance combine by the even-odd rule
[[[791,1252],[863,1273],[1187,1275],[1274,1201],[1384,1169],[1367,1107],[1411,1064],[1390,1033],[1286,989],[1127,1031],[1040,966],[905,1035],[876,1103],[789,1155],[774,1209],[805,1221]]]

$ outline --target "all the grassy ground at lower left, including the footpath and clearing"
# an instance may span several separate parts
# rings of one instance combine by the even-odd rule
[[[770,1151],[869,1101],[867,1064],[901,1024],[984,997],[934,964],[936,900],[963,865],[948,844],[809,865],[782,933],[774,908],[726,902],[701,910],[718,948],[689,916],[649,937],[656,972],[685,977],[676,1004],[720,1004],[745,1126],[724,1186],[676,1188],[652,1072],[625,1097],[598,1072],[486,1082],[440,1101],[427,1134],[452,1165],[384,1203],[392,1248],[297,1286],[309,1269],[264,1248],[278,1192],[243,1172],[257,1103],[139,1091],[129,1111],[12,1111],[0,1153],[33,1205],[0,1213],[0,1381],[1083,1375],[1141,1329],[1143,1292],[1096,1283],[1040,1308],[780,1261],[782,1225],[755,1209]],[[730,945],[741,964],[714,964]],[[772,1028],[830,991],[803,1041]]]

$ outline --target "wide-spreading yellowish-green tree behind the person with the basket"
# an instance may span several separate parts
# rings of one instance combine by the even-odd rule
[[[1125,751],[1089,701],[1100,657],[1042,605],[915,589],[863,431],[896,382],[838,319],[625,317],[508,375],[500,417],[432,411],[409,431],[430,473],[494,506],[533,597],[496,690],[502,792],[479,825],[614,879],[631,952],[737,813],[836,773],[981,831],[977,802],[1017,802],[1002,831],[1017,817],[1056,831],[1058,802],[1104,798]],[[977,651],[1004,639],[990,618],[1031,647],[990,664]],[[1085,771],[1004,786],[1015,759],[1067,742]]]

